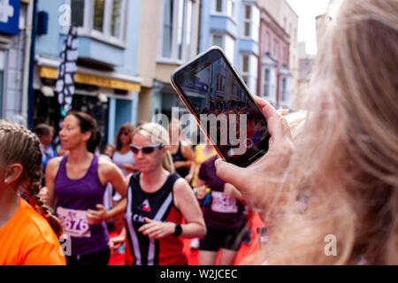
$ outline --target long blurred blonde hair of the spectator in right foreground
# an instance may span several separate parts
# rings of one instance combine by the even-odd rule
[[[311,114],[287,168],[270,177],[269,241],[251,263],[398,264],[397,14],[393,0],[344,1],[325,30]]]

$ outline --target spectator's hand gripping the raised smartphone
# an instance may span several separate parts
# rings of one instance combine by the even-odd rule
[[[275,176],[280,176],[285,170],[294,145],[286,119],[271,103],[258,96],[255,100],[267,119],[271,134],[268,152],[247,168],[221,159],[216,160],[216,168],[218,177],[236,187],[250,207],[261,210],[274,200],[275,187],[279,185],[279,179],[275,180]]]

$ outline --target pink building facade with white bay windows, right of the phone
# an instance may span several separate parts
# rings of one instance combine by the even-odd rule
[[[260,9],[258,95],[279,107],[292,99],[289,70],[289,35],[264,9]]]

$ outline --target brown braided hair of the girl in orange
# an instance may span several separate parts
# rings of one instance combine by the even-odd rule
[[[62,235],[61,223],[38,196],[42,183],[42,151],[37,136],[24,126],[0,119],[0,155],[3,166],[22,165],[23,172],[18,182],[25,188],[30,205],[49,222],[58,237]],[[24,180],[28,181],[27,186],[22,186]]]

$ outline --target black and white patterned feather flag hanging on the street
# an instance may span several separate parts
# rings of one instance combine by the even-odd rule
[[[61,106],[61,115],[63,118],[66,116],[66,113],[72,109],[74,74],[77,70],[77,58],[77,27],[71,26],[61,50],[61,63],[58,67],[58,79],[56,85],[58,103]]]

